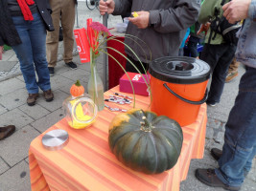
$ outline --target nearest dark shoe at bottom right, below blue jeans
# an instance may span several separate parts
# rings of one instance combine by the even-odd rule
[[[215,174],[214,169],[197,169],[196,170],[196,177],[201,182],[205,183],[206,185],[212,187],[222,187],[226,190],[240,190],[240,186],[230,186],[224,184]]]

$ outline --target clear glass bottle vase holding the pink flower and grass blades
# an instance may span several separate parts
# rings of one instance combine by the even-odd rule
[[[97,59],[95,56],[90,57],[91,75],[87,85],[87,91],[91,99],[98,107],[98,111],[105,108],[104,102],[104,83],[97,72]]]

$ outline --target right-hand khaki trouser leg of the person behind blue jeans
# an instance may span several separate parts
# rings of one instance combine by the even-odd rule
[[[74,35],[73,29],[75,24],[75,3],[74,1],[63,1],[61,8],[61,27],[63,29],[63,59],[65,63],[73,60]]]

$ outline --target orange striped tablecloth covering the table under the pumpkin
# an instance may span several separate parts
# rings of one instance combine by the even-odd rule
[[[107,91],[105,96],[118,90],[115,87]],[[147,109],[149,101],[149,97],[136,96],[136,107]],[[121,107],[128,109],[131,106]],[[190,160],[203,158],[206,105],[201,105],[195,123],[182,127],[184,141],[175,167],[158,175],[135,172],[110,152],[107,142],[108,125],[116,114],[105,108],[93,126],[83,130],[74,130],[65,119],[60,120],[46,131],[64,129],[68,132],[69,142],[59,151],[43,148],[41,138],[46,132],[35,138],[29,151],[32,190],[178,191],[180,181],[186,179]]]

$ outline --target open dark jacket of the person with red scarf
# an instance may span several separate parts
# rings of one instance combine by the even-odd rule
[[[35,0],[38,11],[42,16],[47,31],[54,31],[54,25],[51,17],[51,7],[48,0]],[[21,43],[19,35],[12,22],[11,13],[8,11],[7,0],[0,1],[0,46],[4,44],[9,46]]]

